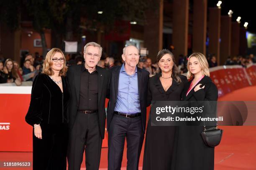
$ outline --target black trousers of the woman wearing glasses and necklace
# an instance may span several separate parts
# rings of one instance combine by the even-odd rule
[[[68,125],[41,125],[42,139],[33,130],[33,170],[66,170]]]

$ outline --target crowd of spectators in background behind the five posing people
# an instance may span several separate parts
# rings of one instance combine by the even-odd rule
[[[177,65],[181,74],[187,72],[187,59],[188,56],[179,55]],[[43,60],[43,56],[40,56],[38,52],[36,52],[34,55],[30,53],[23,55],[20,63],[0,56],[0,83],[14,82],[16,85],[21,85],[23,81],[33,81],[33,78],[42,70]],[[209,67],[218,66],[218,61],[215,54],[207,55],[207,61]],[[80,65],[83,62],[84,58],[80,54],[67,55],[67,66]],[[247,67],[252,63],[256,63],[256,56],[250,54],[246,57],[242,55],[234,57],[229,56],[224,65],[241,65],[243,67]],[[114,57],[103,53],[101,60],[97,65],[105,69],[110,69],[116,65],[122,64],[123,61],[116,60]],[[151,58],[147,56],[140,57],[138,67],[147,70],[150,77],[159,70],[157,63],[152,63]]]

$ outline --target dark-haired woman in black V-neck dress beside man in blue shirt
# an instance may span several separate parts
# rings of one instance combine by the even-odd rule
[[[148,81],[148,105],[152,100],[181,100],[181,92],[187,78],[179,75],[174,61],[172,52],[166,49],[159,51],[157,62],[161,73],[151,77]],[[169,170],[171,168],[176,128],[176,126],[151,126],[151,115],[149,115],[143,170]]]

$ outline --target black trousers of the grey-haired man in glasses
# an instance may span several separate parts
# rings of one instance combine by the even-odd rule
[[[98,170],[102,146],[98,113],[84,114],[77,112],[77,117],[69,136],[69,170],[80,170],[84,150],[86,169]]]

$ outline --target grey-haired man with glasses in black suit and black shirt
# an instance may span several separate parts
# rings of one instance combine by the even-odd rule
[[[105,98],[110,73],[96,66],[102,47],[95,42],[84,46],[84,64],[68,68],[71,91],[69,102],[69,170],[80,170],[85,148],[87,170],[98,170],[105,134]]]

